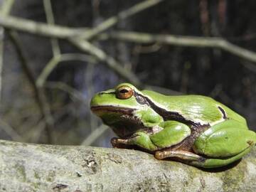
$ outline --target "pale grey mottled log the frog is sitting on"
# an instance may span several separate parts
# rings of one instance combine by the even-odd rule
[[[221,169],[142,151],[0,140],[0,191],[256,191],[256,149]]]

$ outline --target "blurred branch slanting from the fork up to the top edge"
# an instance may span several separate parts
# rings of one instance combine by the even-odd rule
[[[82,33],[82,35],[78,36],[77,38],[83,38],[84,40],[88,40],[93,36],[96,36],[97,34],[102,33],[103,31],[106,31],[108,28],[111,28],[119,20],[121,19],[123,20],[128,18],[129,16],[133,16],[134,14],[137,14],[145,9],[148,9],[151,6],[159,4],[161,1],[164,1],[164,0],[146,0],[146,1],[140,2],[139,4],[135,4],[129,9],[119,12],[117,16],[112,16],[108,18],[107,20],[100,23],[100,25],[96,26],[95,28],[85,31],[85,33]]]

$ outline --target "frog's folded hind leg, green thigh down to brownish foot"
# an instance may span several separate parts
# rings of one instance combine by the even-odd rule
[[[256,134],[228,119],[203,132],[194,142],[193,151],[165,149],[156,151],[156,159],[173,157],[193,166],[225,166],[247,154],[256,143]]]

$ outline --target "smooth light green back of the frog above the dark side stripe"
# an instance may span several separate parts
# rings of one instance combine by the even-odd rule
[[[155,104],[164,110],[178,112],[185,119],[201,124],[215,124],[224,119],[234,119],[246,125],[245,119],[230,108],[203,95],[161,95],[158,92],[144,90]]]

